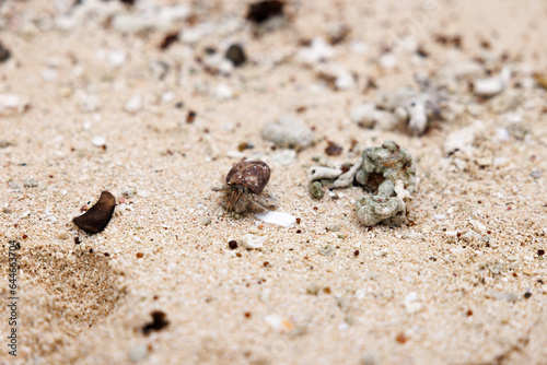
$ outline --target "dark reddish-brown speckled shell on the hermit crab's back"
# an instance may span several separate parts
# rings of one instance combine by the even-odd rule
[[[270,168],[261,161],[244,161],[234,165],[226,176],[226,184],[242,185],[256,195],[263,192],[270,179]]]

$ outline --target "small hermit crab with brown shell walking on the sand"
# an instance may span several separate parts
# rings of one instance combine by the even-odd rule
[[[277,200],[268,193],[261,195],[270,179],[270,168],[261,161],[244,161],[235,164],[226,175],[226,185],[213,188],[224,193],[219,204],[229,212],[264,212],[276,208]]]

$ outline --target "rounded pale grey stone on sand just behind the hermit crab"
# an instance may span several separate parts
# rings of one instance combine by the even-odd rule
[[[283,115],[278,121],[266,123],[261,129],[261,136],[277,146],[294,150],[307,148],[313,140],[312,130],[292,115]]]

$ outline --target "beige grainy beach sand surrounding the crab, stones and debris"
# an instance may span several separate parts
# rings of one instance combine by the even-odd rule
[[[545,90],[515,85],[547,71],[547,3],[290,1],[287,26],[260,37],[243,20],[246,1],[191,1],[190,17],[137,35],[116,31],[101,7],[117,7],[114,14],[138,9],[95,4],[96,13],[66,28],[57,21],[73,10],[63,1],[0,8],[0,39],[12,52],[0,63],[0,92],[28,102],[0,117],[0,140],[11,143],[0,149],[0,364],[547,363],[547,264],[538,255],[547,246],[547,105]],[[159,49],[168,31],[205,22],[212,31],[197,43]],[[333,24],[350,30],[334,46],[334,60],[358,76],[349,90],[334,91],[292,57],[302,40],[328,38]],[[429,57],[414,62],[401,32]],[[435,34],[459,35],[461,49],[440,45]],[[248,62],[230,75],[205,72],[197,60],[203,49],[232,42],[243,44]],[[395,68],[379,67],[385,47]],[[437,122],[422,137],[350,121],[379,91],[412,85],[415,72],[434,74],[454,52],[466,60],[507,54],[507,62],[528,70],[511,84],[520,102],[503,111],[493,107],[503,94],[473,102],[474,113]],[[163,79],[151,67],[158,61],[168,66]],[[365,90],[368,78],[377,90]],[[217,97],[220,83],[233,97]],[[133,95],[142,107],[131,114],[124,106]],[[264,152],[270,161],[260,128],[300,107],[316,143],[289,165],[270,163],[268,185],[279,210],[300,225],[220,214],[205,225],[218,198],[211,187],[238,161],[230,152],[248,142],[247,155]],[[186,122],[189,110],[194,123]],[[522,117],[524,132],[499,140],[507,113]],[[443,143],[478,119],[486,129],[457,168]],[[93,144],[97,137],[106,149]],[[325,139],[344,148],[328,157],[333,165],[357,158],[352,139],[360,149],[386,139],[407,148],[419,179],[414,224],[363,227],[353,212],[358,187],[338,190],[337,200],[312,200],[307,168],[325,155]],[[482,167],[476,161],[498,157]],[[25,187],[30,178],[38,185]],[[104,189],[135,196],[90,236],[71,219]],[[462,239],[476,222],[488,244]],[[340,231],[327,231],[330,224]],[[259,250],[228,247],[248,233],[269,240]],[[4,345],[12,239],[21,244],[16,358]],[[326,244],[335,255],[319,254]],[[313,287],[316,295],[307,293]],[[168,326],[144,335],[154,310]]]

